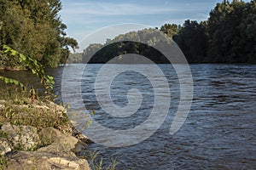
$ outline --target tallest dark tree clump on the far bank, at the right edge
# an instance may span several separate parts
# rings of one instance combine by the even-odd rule
[[[256,63],[255,8],[255,1],[245,3],[234,0],[217,3],[205,22],[205,29],[201,30],[201,34],[207,36],[207,41],[202,41],[204,37],[197,37],[198,41],[205,42],[207,47],[199,44],[189,48],[207,49],[202,62]],[[198,55],[200,56],[200,53]]]

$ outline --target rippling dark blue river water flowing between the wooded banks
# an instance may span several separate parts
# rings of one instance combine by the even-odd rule
[[[68,67],[73,80],[71,82],[78,83],[80,79],[76,68],[81,65]],[[128,105],[126,94],[131,88],[137,88],[143,94],[142,107],[138,114],[114,119],[102,111],[94,95],[94,80],[101,67],[102,65],[89,65],[81,84],[84,106],[96,112],[96,122],[114,129],[128,129],[144,122],[154,106],[154,88],[148,77],[126,71],[114,79],[111,99],[115,105]],[[175,71],[170,71],[170,65],[159,67],[169,82],[172,94],[169,113],[160,128],[138,144],[117,148],[89,144],[87,149],[98,150],[106,163],[111,158],[116,158],[119,162],[117,169],[255,168],[256,65],[190,65],[194,83],[193,101],[189,116],[175,134],[170,134],[170,126],[173,113],[177,111],[180,94],[177,75]],[[55,76],[55,93],[59,95],[62,69],[48,71]],[[29,73],[24,71],[20,74]],[[36,82],[29,76],[19,77],[28,82]],[[71,89],[72,83],[69,83]],[[70,105],[75,109],[79,105],[73,96],[71,93]]]

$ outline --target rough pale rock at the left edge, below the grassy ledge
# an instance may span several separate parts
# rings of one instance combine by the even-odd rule
[[[10,123],[3,124],[1,127],[3,133],[7,134],[7,139],[13,148],[19,150],[34,150],[40,140],[38,130],[31,126],[16,126]]]

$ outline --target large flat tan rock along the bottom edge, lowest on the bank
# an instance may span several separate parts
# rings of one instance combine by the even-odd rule
[[[55,156],[52,153],[17,151],[8,156],[8,169],[12,170],[90,170],[88,162],[75,156]]]

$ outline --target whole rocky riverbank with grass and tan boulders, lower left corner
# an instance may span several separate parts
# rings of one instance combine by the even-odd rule
[[[74,129],[60,105],[1,100],[0,125],[2,169],[90,169],[75,155],[90,139]]]

